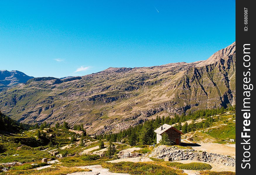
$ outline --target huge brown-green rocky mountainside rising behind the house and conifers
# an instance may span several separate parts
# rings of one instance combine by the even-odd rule
[[[83,123],[88,133],[102,133],[156,115],[226,107],[235,104],[235,50],[233,43],[205,61],[33,78],[0,92],[0,108],[25,123]]]

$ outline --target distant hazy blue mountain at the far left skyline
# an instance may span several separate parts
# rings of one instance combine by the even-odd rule
[[[0,88],[15,85],[18,83],[26,83],[31,78],[34,77],[27,76],[20,71],[0,70]]]

